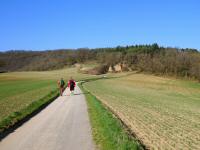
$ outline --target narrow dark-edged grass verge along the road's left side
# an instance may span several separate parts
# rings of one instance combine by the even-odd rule
[[[20,122],[24,122],[25,120],[27,120],[35,113],[47,106],[49,103],[51,103],[53,100],[55,100],[55,98],[58,96],[58,90],[52,91],[43,98],[32,102],[27,107],[19,111],[13,112],[11,115],[2,119],[2,121],[0,122],[0,137],[4,137],[4,132],[16,126],[16,124],[20,124]]]

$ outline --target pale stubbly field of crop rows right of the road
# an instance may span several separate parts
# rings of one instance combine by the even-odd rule
[[[200,84],[132,74],[84,87],[109,106],[149,149],[200,149]]]

